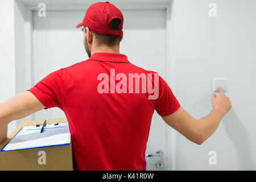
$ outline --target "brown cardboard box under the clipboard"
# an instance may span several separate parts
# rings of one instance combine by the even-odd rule
[[[43,122],[44,120],[21,123],[13,133],[0,144],[0,150],[23,126],[33,126],[43,124]],[[49,119],[48,122],[67,123],[67,119]],[[73,170],[72,143],[66,146],[2,151],[0,152],[0,170]]]

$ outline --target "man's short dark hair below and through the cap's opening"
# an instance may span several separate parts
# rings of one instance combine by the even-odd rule
[[[112,30],[118,30],[120,23],[121,23],[121,19],[114,18],[110,22],[109,28],[112,29]],[[86,29],[85,29],[85,31],[86,31]],[[110,35],[110,34],[105,35],[105,34],[100,34],[98,32],[95,32],[95,31],[92,31],[92,32],[96,37],[96,41],[97,41],[98,46],[114,47],[114,46],[119,46],[119,44],[120,44],[121,36]]]

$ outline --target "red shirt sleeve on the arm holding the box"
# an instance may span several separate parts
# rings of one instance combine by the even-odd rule
[[[30,91],[36,98],[38,98],[38,100],[46,107],[44,109],[59,107],[63,110],[64,69],[61,68],[50,73],[27,91]]]

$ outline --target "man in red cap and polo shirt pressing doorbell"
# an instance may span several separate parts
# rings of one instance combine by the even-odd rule
[[[75,169],[145,170],[154,110],[184,137],[201,144],[232,107],[220,88],[218,97],[212,95],[209,115],[195,119],[187,113],[162,77],[136,67],[119,53],[123,15],[109,2],[90,6],[77,25],[81,26],[89,59],[52,72],[3,102],[0,142],[11,121],[59,107],[68,119]]]

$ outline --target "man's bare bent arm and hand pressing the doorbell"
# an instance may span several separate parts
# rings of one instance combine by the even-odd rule
[[[229,97],[225,96],[221,88],[219,92],[220,95],[218,97],[216,97],[216,94],[212,95],[213,110],[204,118],[193,118],[183,107],[177,109],[175,113],[162,118],[184,137],[194,143],[201,144],[214,133],[222,117],[232,107]]]

